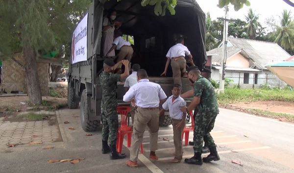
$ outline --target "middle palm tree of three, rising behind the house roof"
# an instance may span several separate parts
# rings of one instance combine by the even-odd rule
[[[256,38],[256,31],[261,24],[258,22],[259,15],[255,14],[252,8],[249,8],[247,16],[245,16],[247,24],[245,25],[244,29],[248,34],[250,39]]]

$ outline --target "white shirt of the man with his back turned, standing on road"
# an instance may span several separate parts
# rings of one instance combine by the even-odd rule
[[[141,79],[125,93],[123,101],[129,102],[135,98],[136,105],[141,108],[157,108],[159,101],[166,97],[159,84],[149,82],[148,79]]]

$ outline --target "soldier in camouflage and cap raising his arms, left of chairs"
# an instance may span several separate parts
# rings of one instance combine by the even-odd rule
[[[122,64],[125,67],[122,75],[113,74],[113,71]],[[116,150],[119,119],[117,113],[117,82],[129,75],[128,60],[122,60],[115,64],[112,59],[105,59],[103,72],[99,75],[102,89],[101,116],[102,116],[102,154],[110,152],[110,159],[125,158],[125,154],[119,154]],[[108,146],[108,140],[110,147]]]

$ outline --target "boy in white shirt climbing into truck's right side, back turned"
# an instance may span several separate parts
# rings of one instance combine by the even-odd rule
[[[188,56],[189,59],[192,59],[193,57],[188,48],[184,46],[184,38],[178,38],[176,42],[177,44],[172,46],[166,55],[167,62],[164,72],[160,76],[167,75],[168,67],[171,62],[173,83],[181,85],[181,76],[187,77],[185,56]]]

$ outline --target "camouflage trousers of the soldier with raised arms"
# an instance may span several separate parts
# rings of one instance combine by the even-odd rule
[[[102,140],[108,141],[110,146],[114,145],[117,140],[117,133],[119,127],[119,118],[117,111],[101,110],[102,117]]]

